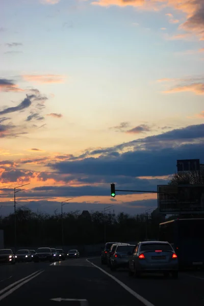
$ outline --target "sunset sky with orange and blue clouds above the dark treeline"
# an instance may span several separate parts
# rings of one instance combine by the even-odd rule
[[[204,163],[203,0],[2,0],[0,214],[157,207]]]

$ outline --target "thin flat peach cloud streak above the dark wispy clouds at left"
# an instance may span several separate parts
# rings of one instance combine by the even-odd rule
[[[25,81],[39,84],[64,83],[65,77],[59,74],[24,74],[22,78]]]

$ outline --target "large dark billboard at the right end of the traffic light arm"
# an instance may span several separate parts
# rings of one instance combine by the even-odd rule
[[[157,192],[162,214],[204,213],[204,185],[158,185]]]

